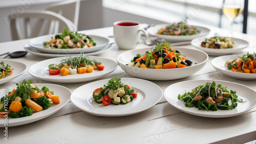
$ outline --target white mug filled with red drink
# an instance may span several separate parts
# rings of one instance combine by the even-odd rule
[[[145,38],[141,40],[141,33]],[[148,38],[148,33],[144,29],[140,29],[140,23],[137,21],[116,21],[114,22],[114,38],[120,49],[130,50],[144,42]]]

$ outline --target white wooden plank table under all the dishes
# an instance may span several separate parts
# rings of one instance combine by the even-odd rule
[[[225,30],[211,28],[211,34],[225,33]],[[101,28],[84,31],[87,35],[108,37],[113,34],[113,28]],[[255,50],[255,36],[234,33],[236,37],[251,42],[248,49],[239,52]],[[109,38],[114,41],[114,38]],[[23,46],[30,39],[0,43],[1,54],[6,52],[23,51]],[[149,47],[141,44],[136,49]],[[195,49],[192,45],[183,45]],[[116,60],[125,52],[114,44],[113,48],[98,56]],[[242,81],[218,73],[211,66],[209,56],[206,65],[198,73],[187,78],[172,81],[152,81],[164,91],[167,86],[186,80],[215,79],[240,83],[256,90],[255,81]],[[23,58],[13,59],[32,64],[48,59],[28,53]],[[113,73],[101,79],[113,77],[131,77],[118,67]],[[51,83],[35,79],[26,71],[22,76],[0,85],[0,89],[13,86],[13,82],[21,83],[24,79],[33,83]],[[101,80],[99,79],[99,80]],[[97,80],[95,80],[97,81]],[[74,91],[77,87],[90,82],[62,84]],[[3,95],[2,95],[3,96]],[[256,98],[255,98],[256,99]],[[0,121],[3,121],[0,119]],[[152,108],[143,112],[120,117],[104,117],[91,115],[81,111],[69,102],[57,113],[40,121],[8,127],[8,140],[4,139],[4,129],[1,128],[0,143],[244,143],[256,139],[256,108],[244,114],[227,118],[207,118],[184,113],[171,106],[164,97]]]

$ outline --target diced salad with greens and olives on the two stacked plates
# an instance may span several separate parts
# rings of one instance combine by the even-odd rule
[[[88,35],[64,29],[63,33],[53,35],[50,41],[44,42],[44,45],[48,49],[77,49],[95,46],[96,43]]]

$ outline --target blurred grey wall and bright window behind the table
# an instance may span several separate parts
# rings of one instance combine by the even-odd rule
[[[8,15],[46,10],[49,5],[62,1],[0,0],[0,42],[12,40]],[[188,23],[229,29],[229,20],[222,13],[222,3],[223,0],[81,0],[77,30],[111,27],[118,20],[162,24],[178,22],[185,17],[189,17]],[[254,0],[242,0],[242,13],[234,20],[233,31],[256,35],[255,6]]]

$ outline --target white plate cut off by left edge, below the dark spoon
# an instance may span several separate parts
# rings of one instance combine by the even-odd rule
[[[27,70],[27,65],[21,62],[8,60],[8,59],[0,59],[0,62],[5,62],[5,65],[9,64],[11,68],[13,68],[13,73],[5,78],[0,79],[0,84],[9,82],[10,80],[15,79],[16,77],[22,75]]]

